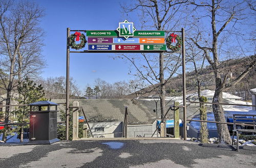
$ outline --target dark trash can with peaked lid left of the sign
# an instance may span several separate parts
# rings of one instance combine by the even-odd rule
[[[29,104],[29,142],[27,145],[52,144],[57,138],[57,106],[50,101],[37,101]],[[51,110],[55,106],[55,110]],[[52,107],[54,108],[54,107]]]

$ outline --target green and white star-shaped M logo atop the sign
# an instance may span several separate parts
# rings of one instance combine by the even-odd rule
[[[134,31],[136,31],[133,22],[127,20],[119,22],[119,27],[116,30],[119,32],[119,37],[124,37],[125,39],[133,37]]]

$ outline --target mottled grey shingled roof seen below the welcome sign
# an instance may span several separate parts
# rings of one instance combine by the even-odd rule
[[[51,101],[65,102],[63,99]],[[128,107],[128,125],[153,124],[156,120],[156,113],[153,111],[156,108],[154,101],[136,100],[137,104],[133,103],[131,99],[80,99],[72,101],[79,102],[79,106],[83,107],[89,122],[123,121],[125,106]],[[61,106],[63,108],[63,105]],[[158,115],[160,116],[160,112]]]

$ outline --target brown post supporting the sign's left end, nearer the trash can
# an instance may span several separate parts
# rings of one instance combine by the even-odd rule
[[[67,28],[67,73],[66,73],[66,140],[69,140],[69,40],[70,28]]]

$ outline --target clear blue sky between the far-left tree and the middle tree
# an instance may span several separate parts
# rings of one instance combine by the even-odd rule
[[[136,27],[136,16],[123,17],[120,3],[123,1],[68,1],[68,0],[36,0],[45,8],[46,16],[41,26],[46,32],[45,46],[42,54],[47,67],[42,77],[66,76],[66,41],[67,27],[72,30],[115,30],[118,22],[133,18]],[[127,18],[128,17],[128,18]],[[129,20],[130,21],[130,20]],[[74,33],[74,32],[73,32]],[[110,53],[71,53],[70,76],[79,88],[87,83],[93,85],[94,79],[101,78],[108,82],[130,80],[128,75],[130,64],[111,57]]]

